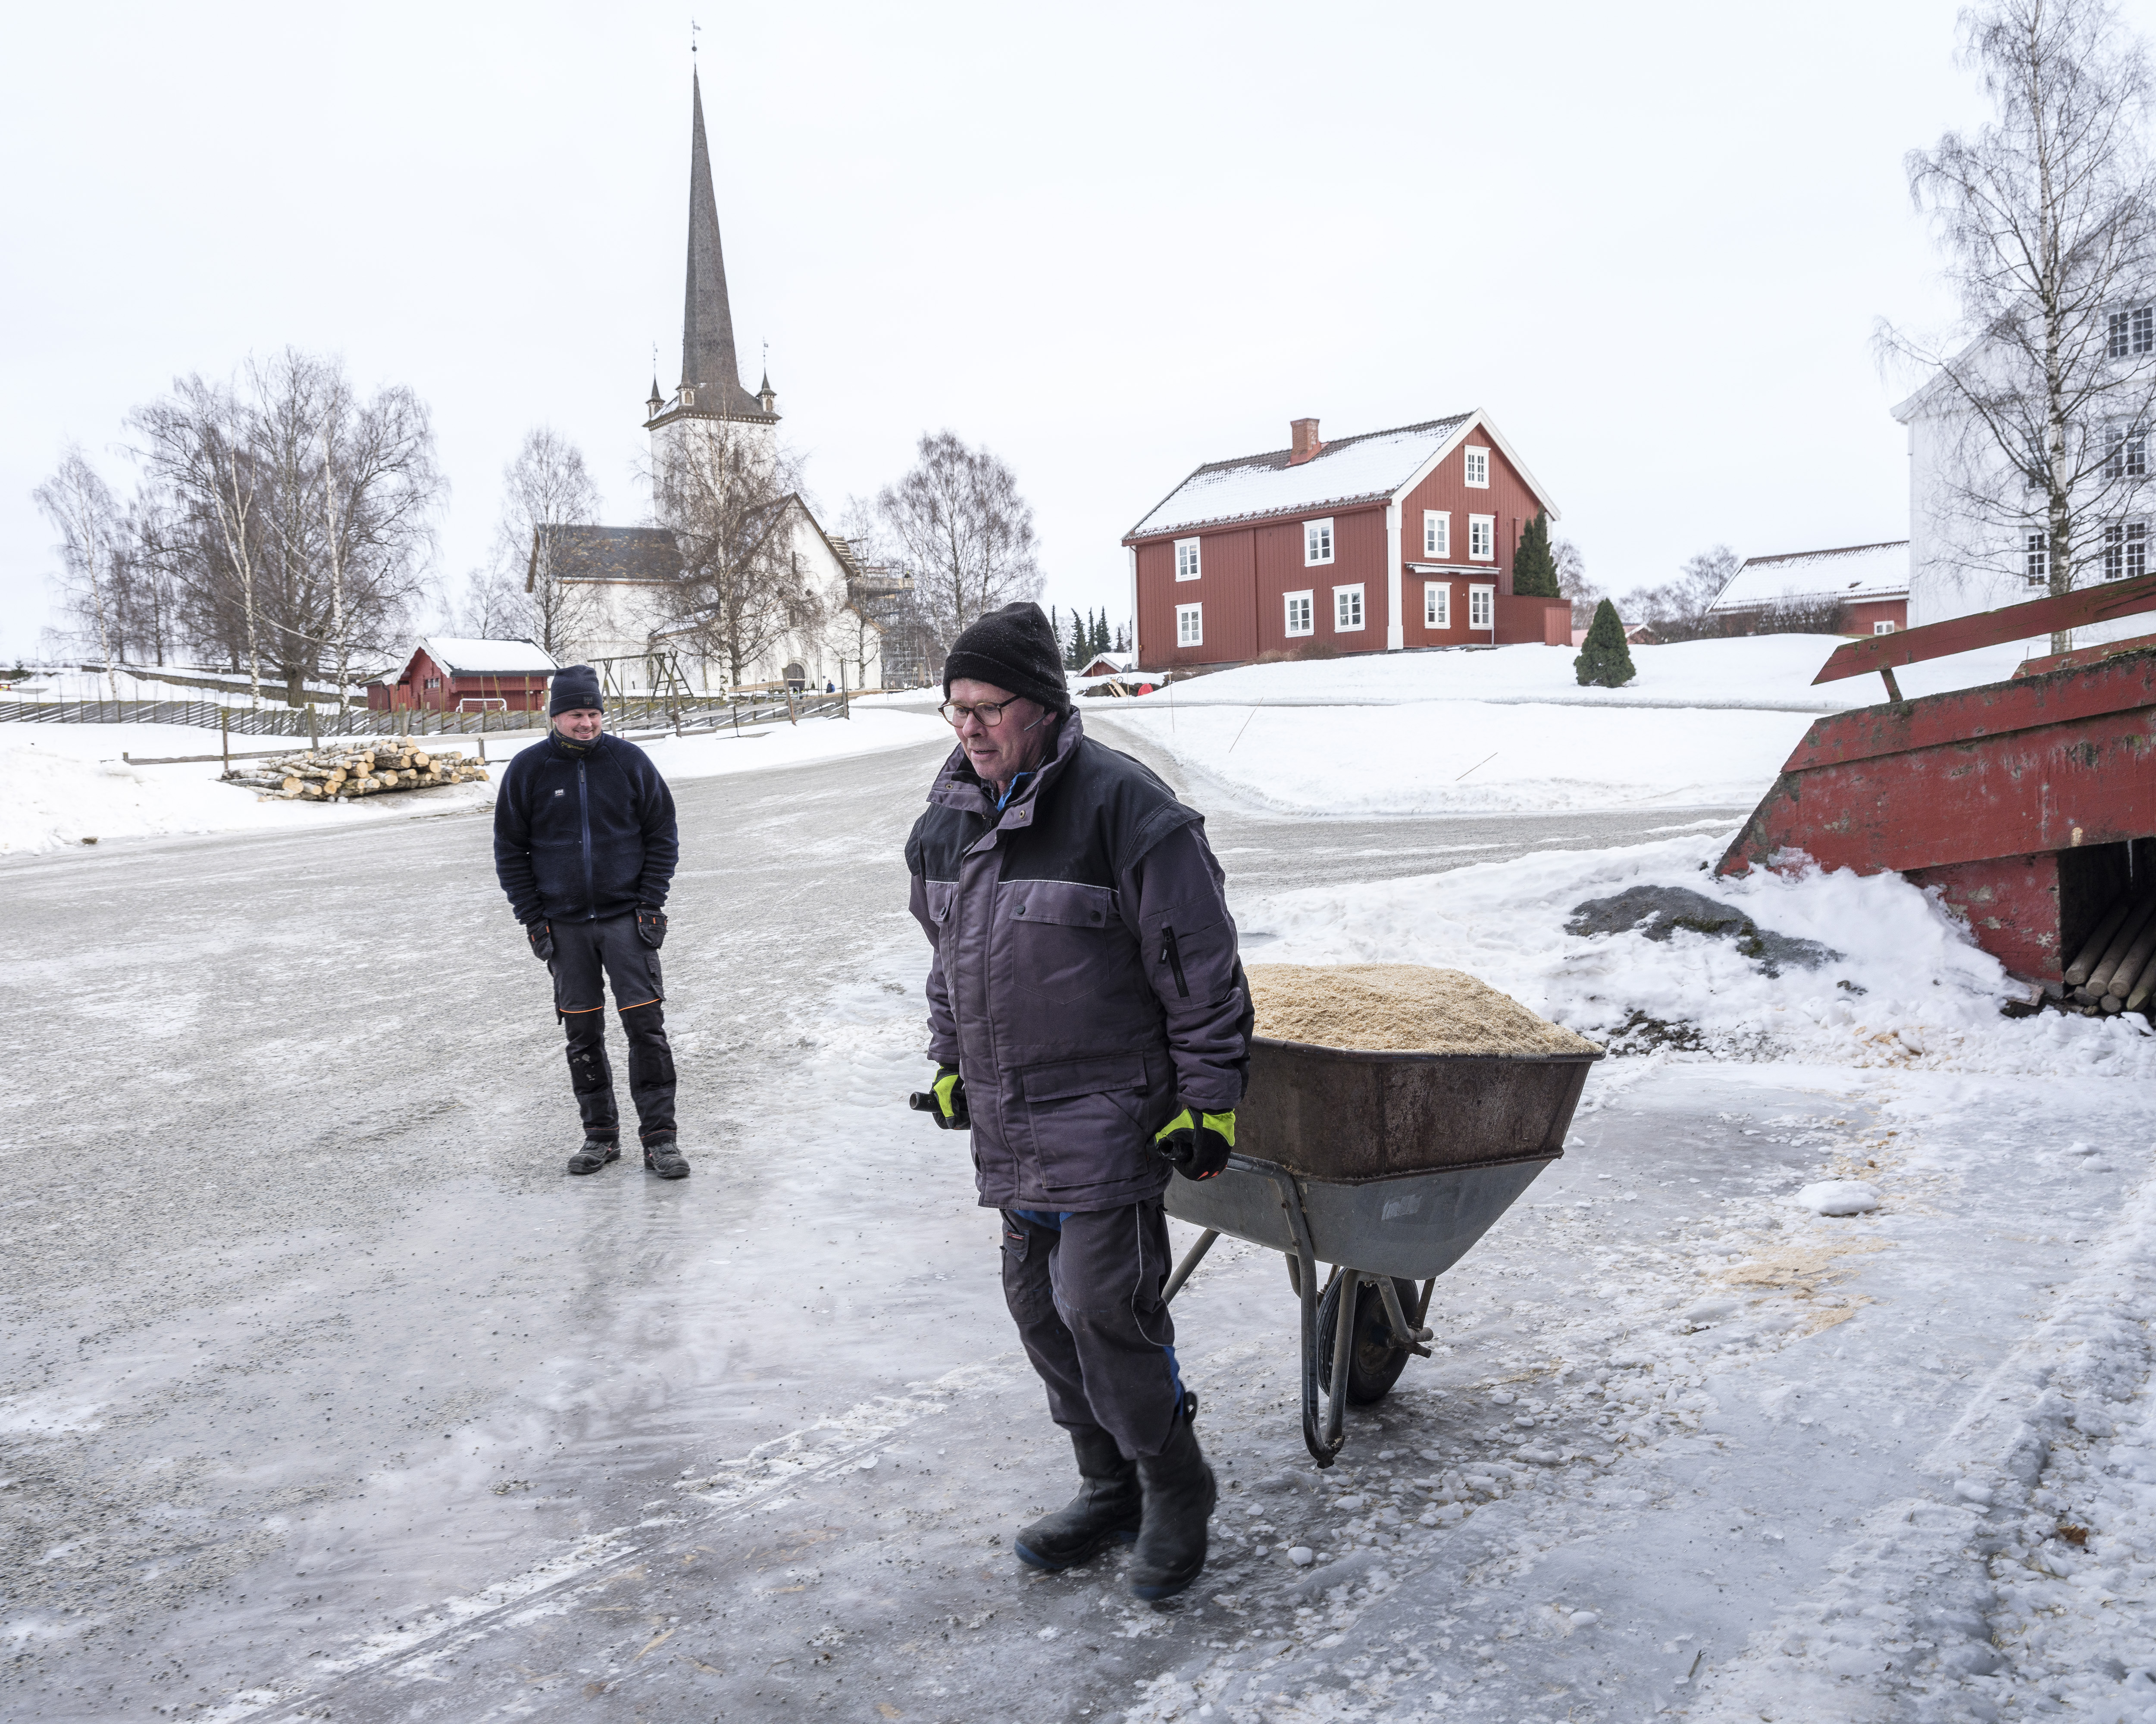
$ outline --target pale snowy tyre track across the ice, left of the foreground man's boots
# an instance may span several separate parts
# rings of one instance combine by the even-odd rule
[[[877,1394],[843,1414],[772,1437],[703,1478],[677,1480],[675,1489],[690,1508],[686,1515],[666,1513],[595,1532],[511,1580],[444,1599],[410,1627],[367,1636],[351,1651],[321,1659],[304,1679],[248,1690],[218,1707],[205,1707],[201,1720],[270,1724],[285,1718],[315,1718],[326,1715],[315,1707],[354,1679],[395,1674],[425,1681],[436,1666],[459,1657],[498,1629],[573,1610],[582,1595],[645,1560],[679,1537],[681,1528],[699,1521],[724,1524],[778,1508],[793,1489],[856,1470],[921,1420],[938,1418],[959,1401],[979,1399],[1011,1375],[1009,1360],[968,1364],[934,1381],[914,1384],[906,1394]]]

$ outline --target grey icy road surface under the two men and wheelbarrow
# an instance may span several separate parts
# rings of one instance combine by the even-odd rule
[[[561,1177],[483,817],[0,871],[0,1718],[2156,1705],[2152,1569],[2106,1554],[2152,1476],[2124,1084],[1613,1060],[1341,1465],[1279,1259],[1222,1243],[1177,1302],[1203,1582],[1022,1571],[1069,1450],[964,1149],[899,1106],[934,761],[679,789],[675,1185]],[[1238,894],[1623,836],[1214,821]],[[1794,1200],[1837,1177],[1882,1209]]]

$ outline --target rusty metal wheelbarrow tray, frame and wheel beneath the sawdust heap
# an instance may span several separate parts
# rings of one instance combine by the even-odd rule
[[[1222,1233],[1283,1252],[1302,1302],[1302,1442],[1332,1465],[1348,1403],[1382,1401],[1410,1355],[1429,1358],[1423,1323],[1438,1276],[1565,1153],[1600,1058],[1369,1054],[1257,1037],[1227,1168],[1169,1181],[1169,1213],[1205,1231],[1164,1297]],[[1324,1282],[1319,1263],[1332,1265]]]

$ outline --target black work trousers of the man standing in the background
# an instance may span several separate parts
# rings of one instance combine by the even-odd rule
[[[606,987],[630,1039],[630,1101],[636,1103],[636,1136],[642,1142],[675,1136],[673,1047],[666,1041],[666,989],[660,955],[636,933],[636,916],[604,922],[550,922],[554,957],[554,1011],[569,1032],[569,1088],[584,1116],[584,1136],[619,1142],[621,1114],[614,1110],[614,1069],[606,1058]]]

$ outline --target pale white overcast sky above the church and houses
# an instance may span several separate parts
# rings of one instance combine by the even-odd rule
[[[1984,114],[1949,0],[699,17],[744,381],[768,340],[828,519],[949,427],[1018,470],[1046,599],[1123,616],[1192,465],[1485,407],[1613,590],[1906,534],[1871,328],[1953,312],[1902,168]],[[129,407],[287,343],[431,405],[444,588],[533,425],[642,519],[688,43],[688,4],[15,13],[0,651],[54,621],[60,448],[132,489]]]

